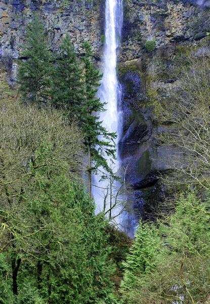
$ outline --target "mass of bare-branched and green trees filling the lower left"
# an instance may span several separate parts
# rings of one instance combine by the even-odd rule
[[[78,181],[78,129],[18,101],[2,101],[1,117],[1,301],[112,304],[107,222]]]

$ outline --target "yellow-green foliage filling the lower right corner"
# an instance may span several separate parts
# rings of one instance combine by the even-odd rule
[[[137,249],[137,259],[128,258],[130,281],[127,280],[131,288],[124,294],[122,285],[126,303],[199,303],[207,298],[210,291],[209,207],[209,201],[200,202],[193,191],[181,195],[174,214],[159,223],[156,231],[159,244],[153,252],[155,264],[151,264],[148,272],[142,274],[140,268],[141,272],[137,273],[136,261],[144,258],[145,251]],[[127,268],[125,275],[128,276]]]

